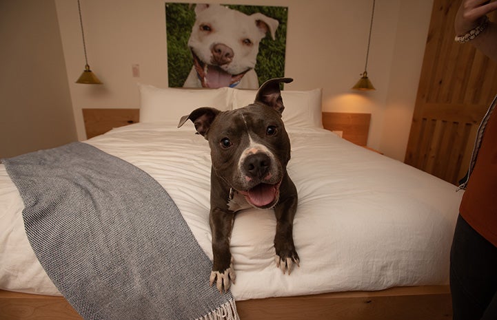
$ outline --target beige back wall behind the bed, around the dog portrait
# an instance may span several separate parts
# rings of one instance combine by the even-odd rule
[[[186,2],[176,0],[173,2]],[[372,0],[245,0],[287,6],[287,89],[323,88],[324,111],[369,112],[369,147],[403,160],[432,0],[377,0],[368,74],[376,92],[353,92],[363,72]],[[168,86],[163,0],[81,0],[92,70],[105,84],[77,85],[84,65],[77,1],[55,0],[78,137],[81,109],[139,107],[136,83]],[[132,77],[132,65],[141,77]]]

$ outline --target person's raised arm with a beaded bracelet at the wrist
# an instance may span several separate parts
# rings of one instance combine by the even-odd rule
[[[485,21],[489,12],[497,10],[497,1],[463,0],[454,19],[456,35],[464,36]],[[497,61],[497,23],[489,21],[487,28],[469,41],[476,49]]]

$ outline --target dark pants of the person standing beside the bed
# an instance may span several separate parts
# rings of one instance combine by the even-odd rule
[[[458,217],[450,253],[454,320],[497,320],[497,248]]]

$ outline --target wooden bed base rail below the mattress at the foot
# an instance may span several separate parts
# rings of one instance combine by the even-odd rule
[[[449,286],[390,288],[376,292],[237,301],[241,320],[442,320],[452,319]],[[3,320],[81,320],[63,297],[0,290]]]

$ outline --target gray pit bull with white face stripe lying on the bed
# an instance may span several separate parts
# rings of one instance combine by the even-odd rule
[[[235,273],[230,237],[236,211],[250,207],[274,209],[276,215],[276,266],[290,275],[299,258],[293,240],[297,191],[287,173],[290,139],[281,114],[285,107],[280,83],[292,78],[274,78],[261,85],[253,104],[241,109],[219,111],[195,109],[188,119],[198,134],[209,142],[212,160],[210,227],[214,262],[210,284],[219,292],[230,288]]]

